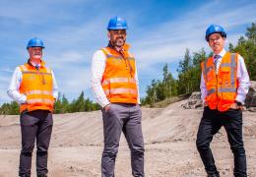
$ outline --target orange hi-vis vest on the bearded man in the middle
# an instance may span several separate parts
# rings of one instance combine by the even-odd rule
[[[110,47],[101,49],[106,57],[101,86],[110,102],[138,102],[135,58],[126,47],[127,45],[124,47],[123,54]]]

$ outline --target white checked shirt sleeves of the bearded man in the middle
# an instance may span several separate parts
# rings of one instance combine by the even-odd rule
[[[102,50],[97,50],[92,59],[92,67],[91,67],[91,87],[96,97],[96,102],[104,107],[109,104],[109,100],[107,99],[104,90],[101,86],[102,76],[105,70],[105,61],[106,57]],[[136,67],[135,67],[136,68]],[[135,80],[138,89],[138,104],[140,104],[140,95],[139,95],[139,80],[137,69],[135,70]]]

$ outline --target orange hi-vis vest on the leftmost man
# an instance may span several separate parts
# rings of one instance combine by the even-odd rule
[[[37,71],[31,64],[20,66],[22,71],[22,83],[20,92],[27,96],[27,102],[21,104],[20,112],[32,110],[53,110],[53,81],[51,70],[41,66]]]

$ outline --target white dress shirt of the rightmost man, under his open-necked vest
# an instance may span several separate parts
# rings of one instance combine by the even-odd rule
[[[218,54],[221,56],[221,58],[217,62],[217,71],[219,71],[219,67],[220,67],[220,64],[222,63],[222,59],[225,53],[226,51],[223,49],[222,52]],[[248,90],[250,88],[250,79],[249,79],[249,75],[248,75],[244,60],[240,55],[238,55],[238,61],[237,61],[237,80],[238,80],[239,86],[237,88],[237,95],[235,97],[235,100],[244,104],[246,94],[248,93]],[[207,96],[207,88],[206,88],[203,72],[201,75],[200,89],[201,89],[201,98],[205,102],[205,98]]]

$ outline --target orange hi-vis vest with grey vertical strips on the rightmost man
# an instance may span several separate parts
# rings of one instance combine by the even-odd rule
[[[218,74],[215,73],[213,57],[201,63],[207,88],[205,101],[210,109],[224,112],[234,103],[239,84],[236,77],[237,60],[237,54],[226,52]]]

